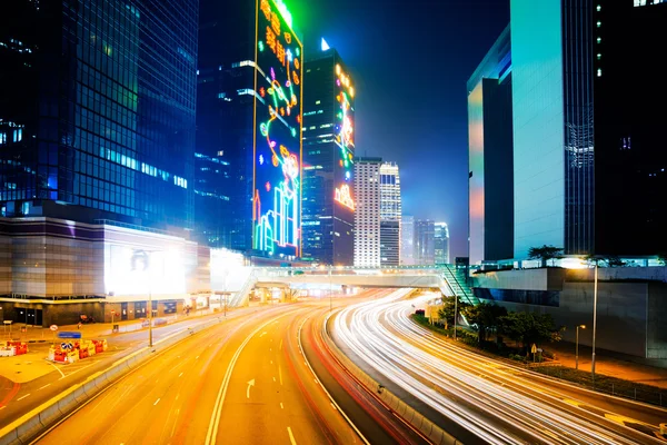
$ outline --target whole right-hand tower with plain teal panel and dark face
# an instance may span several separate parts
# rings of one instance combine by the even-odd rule
[[[515,257],[545,244],[667,250],[666,136],[651,111],[667,86],[645,80],[664,52],[667,4],[512,0],[510,20]]]

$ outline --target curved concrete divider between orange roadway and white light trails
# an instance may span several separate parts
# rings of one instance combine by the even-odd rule
[[[394,393],[376,382],[371,376],[366,374],[355,362],[352,362],[345,353],[342,353],[331,336],[329,335],[329,319],[325,320],[322,338],[334,357],[347,372],[359,382],[369,393],[375,394],[381,403],[391,412],[394,412],[404,422],[409,424],[415,431],[419,432],[428,442],[434,445],[462,445],[451,434],[440,428],[434,422],[425,417],[421,413],[412,408],[410,405],[398,398]]]

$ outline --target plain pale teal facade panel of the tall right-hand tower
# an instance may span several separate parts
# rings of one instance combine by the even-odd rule
[[[560,2],[511,0],[516,258],[565,246],[565,111]]]

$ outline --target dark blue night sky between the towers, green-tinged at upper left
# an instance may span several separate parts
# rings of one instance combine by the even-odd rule
[[[509,22],[509,0],[285,0],[305,37],[356,83],[356,154],[400,168],[404,214],[449,225],[467,256],[466,81]]]

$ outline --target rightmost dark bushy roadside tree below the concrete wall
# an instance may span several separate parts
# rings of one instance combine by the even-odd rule
[[[500,317],[500,330],[524,348],[544,342],[559,342],[563,328],[557,328],[550,315],[511,312]]]

